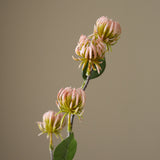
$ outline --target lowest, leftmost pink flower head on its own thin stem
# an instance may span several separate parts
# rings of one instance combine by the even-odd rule
[[[57,114],[54,111],[48,111],[43,114],[43,122],[37,122],[39,129],[42,131],[41,134],[55,133],[56,135],[60,134],[60,131],[66,124],[66,120],[63,119],[63,114]]]

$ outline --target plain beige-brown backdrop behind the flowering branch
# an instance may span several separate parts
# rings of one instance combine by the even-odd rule
[[[90,81],[84,119],[74,122],[75,160],[160,159],[160,2],[157,0],[0,1],[0,159],[49,160],[36,121],[58,111],[61,87],[80,87],[71,56],[102,15],[122,36],[107,69]],[[55,144],[60,140],[56,140]]]

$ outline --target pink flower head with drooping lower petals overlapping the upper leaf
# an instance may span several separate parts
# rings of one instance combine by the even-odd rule
[[[76,61],[81,61],[79,67],[84,70],[85,66],[88,64],[89,72],[94,69],[100,73],[101,60],[104,59],[104,54],[106,51],[106,44],[100,37],[91,35],[86,37],[81,35],[77,47],[75,49],[78,58],[73,57]]]

